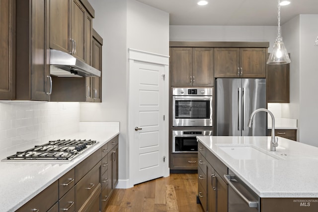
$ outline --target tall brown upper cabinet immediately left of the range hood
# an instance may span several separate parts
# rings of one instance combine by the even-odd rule
[[[50,100],[46,3],[16,0],[16,100]]]

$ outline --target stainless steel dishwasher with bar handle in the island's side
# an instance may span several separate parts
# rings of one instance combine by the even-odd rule
[[[229,185],[229,212],[259,212],[260,198],[229,169],[224,175]]]

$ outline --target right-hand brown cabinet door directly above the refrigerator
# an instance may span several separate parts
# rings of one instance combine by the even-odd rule
[[[265,48],[240,48],[240,77],[266,77]]]

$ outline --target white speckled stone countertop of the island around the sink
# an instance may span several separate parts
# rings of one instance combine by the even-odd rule
[[[278,138],[276,151],[269,151],[270,137],[197,139],[261,198],[318,198],[318,147]],[[257,154],[255,159],[240,159],[242,155],[236,159],[223,146],[250,146],[270,157]]]

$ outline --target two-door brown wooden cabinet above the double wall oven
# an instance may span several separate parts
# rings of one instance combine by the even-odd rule
[[[171,86],[213,86],[213,48],[170,48]]]

